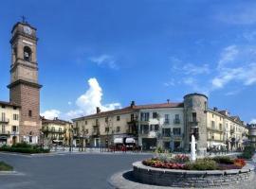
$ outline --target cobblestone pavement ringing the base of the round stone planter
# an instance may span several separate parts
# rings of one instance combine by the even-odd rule
[[[256,155],[253,157],[253,161],[248,162],[251,164],[256,165]],[[130,171],[122,171],[115,175],[113,175],[109,183],[112,185],[113,188],[116,189],[178,189],[177,187],[168,187],[168,186],[155,186],[149,184],[143,184],[137,182],[133,178],[132,170]],[[256,189],[256,176],[251,181],[241,182],[229,186],[220,186],[220,187],[210,187],[210,189]]]

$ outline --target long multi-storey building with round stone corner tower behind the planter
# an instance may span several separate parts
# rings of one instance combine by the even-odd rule
[[[85,146],[140,146],[145,150],[156,147],[190,150],[192,135],[199,155],[207,149],[243,148],[247,126],[238,116],[208,107],[205,94],[187,94],[183,102],[136,105],[100,112],[73,119]],[[78,138],[79,141],[79,138]]]

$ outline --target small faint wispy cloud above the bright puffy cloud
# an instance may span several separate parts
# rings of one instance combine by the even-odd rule
[[[90,58],[90,60],[97,63],[99,66],[108,66],[109,68],[114,70],[119,69],[116,60],[110,55],[103,54],[98,57],[92,57]]]

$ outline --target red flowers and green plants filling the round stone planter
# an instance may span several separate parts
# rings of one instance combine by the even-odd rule
[[[189,156],[176,155],[174,158],[152,158],[144,160],[144,165],[155,168],[182,169],[182,170],[229,170],[241,169],[247,163],[243,159],[231,159],[229,157],[215,157],[198,159],[191,163]]]

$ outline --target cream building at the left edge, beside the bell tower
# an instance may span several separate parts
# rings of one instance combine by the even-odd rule
[[[19,106],[0,101],[0,146],[10,146],[20,142],[19,119]]]

